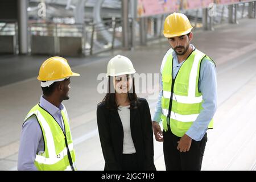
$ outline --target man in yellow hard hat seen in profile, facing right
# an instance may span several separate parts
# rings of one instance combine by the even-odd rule
[[[18,170],[76,170],[69,119],[62,101],[68,100],[73,73],[63,57],[51,57],[39,70],[43,96],[22,125]]]

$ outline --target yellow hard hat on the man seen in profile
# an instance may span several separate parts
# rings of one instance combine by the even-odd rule
[[[70,76],[80,76],[79,73],[73,73],[68,65],[68,61],[63,57],[50,57],[41,65],[38,75],[40,81],[54,81]]]

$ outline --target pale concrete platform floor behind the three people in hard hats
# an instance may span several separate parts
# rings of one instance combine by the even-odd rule
[[[215,31],[196,31],[192,43],[216,62],[218,109],[214,130],[208,131],[202,170],[256,170],[256,20],[244,19]],[[106,72],[114,55],[130,57],[138,73],[159,73],[166,39],[134,51],[105,52],[85,58],[68,58],[80,77],[72,78],[69,101],[64,101],[71,121],[79,170],[102,170],[96,123],[97,76]],[[42,94],[36,80],[40,64],[49,56],[0,56],[0,170],[15,170],[23,118]],[[14,65],[15,63],[15,65]],[[153,85],[158,88],[158,82]],[[156,99],[147,98],[151,114]],[[155,166],[164,170],[162,143],[154,142]]]

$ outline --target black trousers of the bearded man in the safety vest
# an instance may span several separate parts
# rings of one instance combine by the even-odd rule
[[[207,143],[207,133],[205,133],[201,141],[192,139],[191,147],[188,152],[180,152],[177,150],[177,142],[180,137],[174,135],[170,129],[163,131],[163,152],[166,170],[189,170],[200,171],[204,156],[205,144]]]

